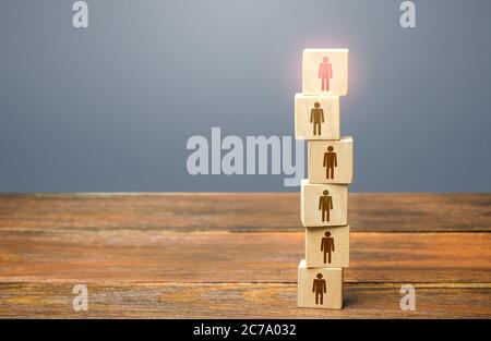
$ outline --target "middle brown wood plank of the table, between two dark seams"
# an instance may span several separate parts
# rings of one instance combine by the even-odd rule
[[[2,231],[0,281],[296,282],[302,232]],[[491,283],[490,233],[351,233],[347,282]]]

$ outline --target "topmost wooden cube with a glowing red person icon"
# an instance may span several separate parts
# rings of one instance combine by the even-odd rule
[[[348,49],[303,50],[302,92],[304,95],[347,95]]]

